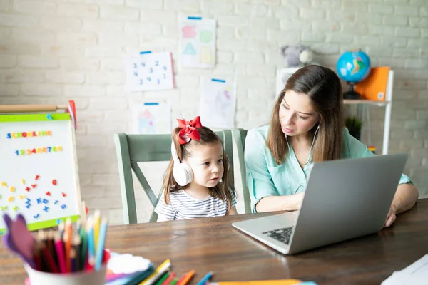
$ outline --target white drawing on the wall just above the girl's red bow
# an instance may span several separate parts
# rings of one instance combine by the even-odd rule
[[[203,78],[200,121],[210,128],[235,128],[236,85],[231,80]]]

